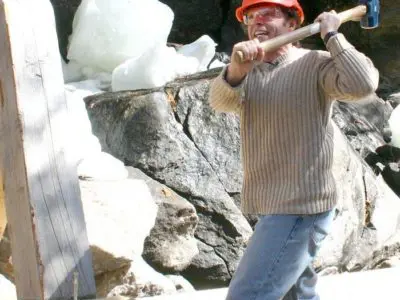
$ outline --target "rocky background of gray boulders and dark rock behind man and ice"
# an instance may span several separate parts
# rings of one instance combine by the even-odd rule
[[[51,2],[65,56],[80,1]],[[171,43],[209,34],[220,52],[229,53],[243,38],[234,20],[238,0],[162,2],[175,12]],[[345,0],[301,3],[306,22],[322,10],[352,6]],[[321,275],[391,267],[400,257],[400,151],[388,144],[387,128],[400,102],[400,11],[394,0],[381,8],[378,29],[342,27],[373,59],[381,84],[377,95],[334,105],[339,205],[332,233],[314,263]],[[317,37],[303,44],[322,47]],[[153,90],[85,98],[93,134],[127,173],[118,180],[80,177],[99,297],[144,297],[229,283],[257,216],[243,215],[238,208],[239,120],[207,105],[209,84],[219,71]],[[0,241],[0,274],[0,290],[12,287],[4,283],[13,281],[7,236]]]

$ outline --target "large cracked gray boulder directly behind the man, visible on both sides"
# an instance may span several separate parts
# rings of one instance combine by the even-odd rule
[[[197,287],[226,285],[251,234],[234,204],[241,190],[239,120],[216,114],[207,104],[217,72],[161,89],[85,99],[103,148],[195,207],[199,254],[180,273]],[[385,144],[382,131],[390,111],[376,96],[334,105],[339,204],[335,226],[315,262],[319,270],[369,268],[374,257],[382,258],[386,247],[400,241],[400,199],[363,160]]]

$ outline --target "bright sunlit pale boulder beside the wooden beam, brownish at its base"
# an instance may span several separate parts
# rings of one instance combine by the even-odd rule
[[[127,266],[143,252],[157,205],[142,180],[80,180],[95,275]]]

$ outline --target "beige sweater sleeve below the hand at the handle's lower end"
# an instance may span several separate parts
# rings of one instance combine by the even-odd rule
[[[239,112],[244,97],[246,78],[237,86],[231,86],[225,79],[227,66],[216,77],[210,86],[209,104],[219,112]]]

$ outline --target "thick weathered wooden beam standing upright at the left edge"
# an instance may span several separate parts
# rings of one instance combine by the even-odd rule
[[[53,8],[0,2],[0,118],[5,204],[18,300],[96,295]]]

